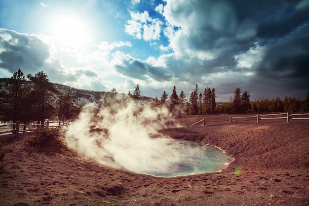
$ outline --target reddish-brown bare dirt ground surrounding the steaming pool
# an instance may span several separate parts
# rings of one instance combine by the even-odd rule
[[[309,206],[309,122],[284,120],[193,124],[160,132],[218,146],[235,160],[222,172],[154,177],[98,165],[73,151],[0,136],[12,152],[0,172],[1,206]],[[219,117],[219,116],[218,116]]]

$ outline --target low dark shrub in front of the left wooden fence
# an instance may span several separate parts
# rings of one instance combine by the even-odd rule
[[[36,128],[31,131],[29,142],[32,146],[61,151],[66,149],[65,143],[60,137],[59,128]]]

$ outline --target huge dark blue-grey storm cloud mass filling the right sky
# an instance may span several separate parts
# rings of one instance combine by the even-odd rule
[[[186,79],[193,81],[201,76],[231,72],[234,75],[230,79],[214,82],[214,87],[222,86],[218,89],[222,92],[242,86],[258,94],[252,82],[257,83],[256,87],[270,85],[274,88],[272,92],[280,90],[283,84],[294,91],[308,85],[308,1],[194,1],[173,4],[170,11],[172,14],[166,12],[167,20],[180,26],[185,34],[174,44],[176,49],[214,54],[213,58],[200,61],[200,65],[195,57],[188,64],[185,58],[181,59],[177,64],[180,67],[174,67],[176,77],[176,71],[182,67],[183,73],[191,75]],[[236,55],[255,48],[260,50],[256,49],[251,58],[245,59],[245,65],[251,66],[237,65]],[[176,65],[172,59],[170,65]],[[246,76],[247,73],[251,75]],[[271,83],[255,81],[259,79]]]

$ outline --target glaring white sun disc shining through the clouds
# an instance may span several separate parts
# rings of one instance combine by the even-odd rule
[[[53,23],[52,33],[60,44],[73,48],[84,46],[91,41],[87,24],[75,17],[56,19]]]

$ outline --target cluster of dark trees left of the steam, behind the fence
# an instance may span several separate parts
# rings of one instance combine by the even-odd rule
[[[31,83],[27,83],[27,79]],[[58,117],[68,120],[77,117],[80,107],[76,105],[76,98],[70,87],[60,92],[49,82],[47,75],[42,71],[33,76],[27,75],[18,69],[1,88],[0,92],[0,119],[2,121],[17,120],[27,123]],[[57,98],[53,97],[56,94]]]

